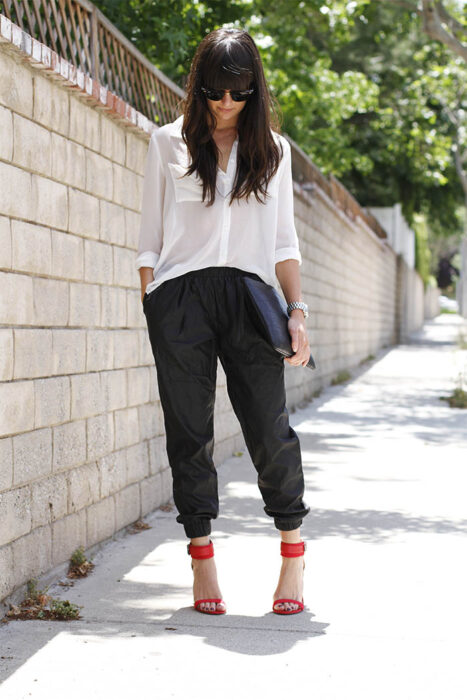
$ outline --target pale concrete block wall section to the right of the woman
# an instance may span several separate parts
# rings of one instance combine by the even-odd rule
[[[294,183],[302,295],[317,368],[286,364],[290,406],[310,399],[341,370],[396,342],[397,256],[363,221],[348,219],[315,185]]]

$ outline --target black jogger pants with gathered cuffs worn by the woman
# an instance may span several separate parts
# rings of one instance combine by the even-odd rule
[[[284,358],[255,323],[243,275],[260,279],[235,267],[206,267],[166,280],[143,298],[177,522],[190,538],[209,535],[219,512],[212,458],[218,357],[266,514],[279,530],[294,530],[310,510],[285,403]]]

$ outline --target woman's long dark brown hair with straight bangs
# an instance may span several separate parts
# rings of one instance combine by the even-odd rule
[[[214,203],[217,177],[218,148],[212,133],[217,127],[215,116],[209,111],[201,86],[245,90],[254,87],[238,115],[237,171],[230,204],[254,193],[265,195],[271,177],[276,173],[283,156],[282,145],[277,146],[271,129],[280,129],[280,107],[270,93],[264,76],[263,64],[251,35],[241,29],[216,29],[207,34],[193,57],[187,78],[186,97],[182,100],[182,138],[191,156],[186,175],[197,172],[203,182],[203,202]],[[276,105],[279,109],[276,111]]]

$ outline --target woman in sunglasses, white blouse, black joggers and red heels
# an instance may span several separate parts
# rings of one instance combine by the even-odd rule
[[[218,515],[213,464],[217,358],[258,472],[264,510],[281,535],[273,611],[303,610],[304,479],[285,406],[284,358],[263,338],[243,276],[274,284],[289,303],[295,354],[310,357],[293,218],[290,145],[251,36],[218,29],[200,43],[184,113],[151,136],[137,267],[156,364],[173,495],[190,539],[195,608],[222,614],[210,540]]]

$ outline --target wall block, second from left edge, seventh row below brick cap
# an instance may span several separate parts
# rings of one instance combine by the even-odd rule
[[[34,402],[34,426],[36,428],[70,420],[69,378],[35,379]]]

